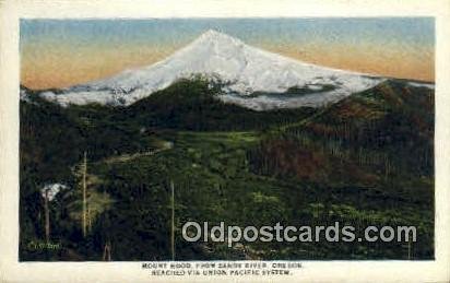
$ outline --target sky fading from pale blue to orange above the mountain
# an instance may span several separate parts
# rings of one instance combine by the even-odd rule
[[[163,59],[210,28],[299,60],[434,80],[433,17],[310,17],[22,20],[22,81],[60,86],[109,75]],[[49,76],[64,67],[72,78]]]

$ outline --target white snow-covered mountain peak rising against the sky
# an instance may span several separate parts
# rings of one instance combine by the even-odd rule
[[[68,87],[58,94],[44,92],[40,95],[62,106],[130,105],[193,74],[225,82],[221,99],[257,110],[321,106],[370,89],[383,80],[301,62],[208,31],[157,63]],[[292,87],[301,90],[301,95],[283,94]]]

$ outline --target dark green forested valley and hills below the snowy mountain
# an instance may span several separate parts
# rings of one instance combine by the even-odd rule
[[[201,79],[128,107],[60,107],[23,90],[20,260],[434,258],[433,90],[387,80],[321,108],[267,111],[224,104]],[[55,182],[68,188],[46,202]],[[186,241],[187,221],[406,225],[417,241],[228,248]]]

